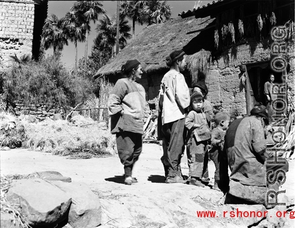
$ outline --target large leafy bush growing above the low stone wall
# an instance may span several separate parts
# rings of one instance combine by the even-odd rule
[[[74,106],[92,91],[89,80],[75,77],[52,57],[4,71],[4,90],[10,103],[57,103]]]

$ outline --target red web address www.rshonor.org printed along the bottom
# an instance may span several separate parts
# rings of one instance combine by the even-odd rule
[[[267,213],[268,211],[240,211],[237,208],[236,211],[223,211],[223,215],[219,215],[216,211],[197,211],[197,216],[199,218],[262,218],[266,217]],[[277,218],[295,219],[295,211],[277,211],[275,216]]]

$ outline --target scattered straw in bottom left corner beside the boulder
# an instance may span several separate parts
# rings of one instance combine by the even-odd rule
[[[19,206],[13,203],[10,203],[6,199],[6,194],[10,188],[12,180],[18,180],[27,178],[27,176],[22,175],[9,175],[9,176],[0,176],[0,211],[1,213],[9,213],[13,215],[14,224],[19,224],[19,228],[30,228],[24,216],[22,216],[19,211]]]

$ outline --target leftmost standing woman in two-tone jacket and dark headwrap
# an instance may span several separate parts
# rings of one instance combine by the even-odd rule
[[[137,182],[132,169],[142,152],[142,135],[146,92],[137,80],[141,79],[142,65],[128,60],[122,65],[124,78],[119,79],[108,100],[111,133],[116,134],[118,156],[124,165],[124,184]]]

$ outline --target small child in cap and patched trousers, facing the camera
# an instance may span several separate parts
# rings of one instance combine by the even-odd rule
[[[185,127],[189,130],[189,140],[186,145],[187,160],[189,166],[189,179],[191,185],[205,187],[201,178],[207,171],[204,167],[205,156],[208,154],[207,146],[210,139],[210,129],[206,120],[206,115],[202,111],[204,98],[201,93],[193,93],[190,106],[192,110],[185,118]]]

